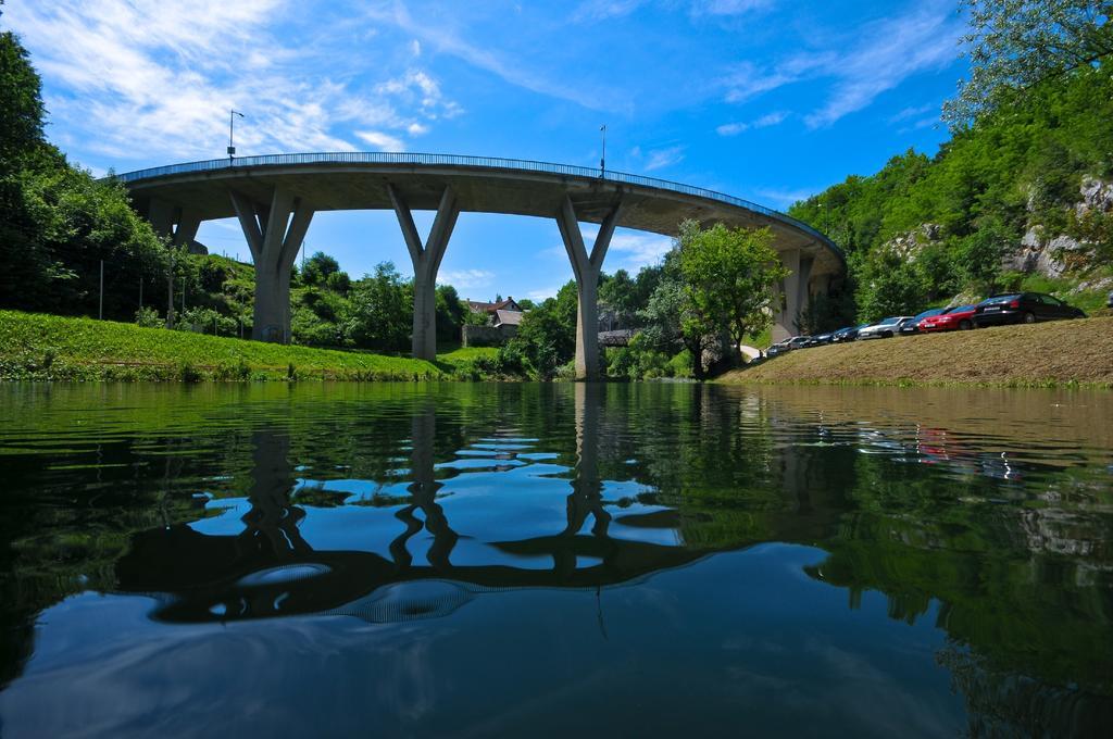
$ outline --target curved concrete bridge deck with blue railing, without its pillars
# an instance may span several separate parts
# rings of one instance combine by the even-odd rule
[[[815,272],[837,273],[841,252],[807,224],[755,203],[662,179],[493,157],[331,152],[211,159],[118,175],[137,201],[188,207],[201,220],[235,216],[229,190],[266,203],[276,186],[314,210],[390,209],[391,183],[414,209],[433,210],[451,185],[463,211],[550,218],[568,194],[580,220],[601,223],[621,193],[620,227],[674,235],[692,218],[728,226],[769,226],[778,249],[816,257]]]

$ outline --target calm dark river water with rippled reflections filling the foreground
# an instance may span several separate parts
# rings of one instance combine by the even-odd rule
[[[1100,735],[1111,420],[1051,391],[0,387],[0,735]]]

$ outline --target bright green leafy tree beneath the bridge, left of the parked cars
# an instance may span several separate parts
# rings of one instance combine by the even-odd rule
[[[691,306],[684,323],[691,331],[726,331],[737,352],[747,335],[771,324],[775,288],[789,272],[768,228],[701,229],[688,221],[680,229],[680,274]]]

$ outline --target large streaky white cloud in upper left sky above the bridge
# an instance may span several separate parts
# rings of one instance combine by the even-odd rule
[[[71,0],[10,6],[4,20],[47,82],[51,118],[86,152],[118,159],[223,156],[229,108],[246,114],[240,156],[352,150],[348,127],[424,132],[459,114],[421,70],[413,89],[381,92],[342,70],[362,49],[272,32],[290,12],[279,0]]]

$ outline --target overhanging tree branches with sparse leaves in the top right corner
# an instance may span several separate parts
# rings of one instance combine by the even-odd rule
[[[1015,99],[1040,82],[1113,55],[1110,0],[962,0],[969,79],[943,106],[953,127]]]

